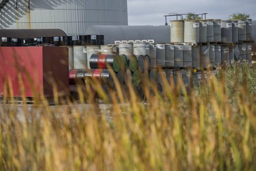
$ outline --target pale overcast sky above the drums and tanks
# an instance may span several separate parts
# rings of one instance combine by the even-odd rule
[[[169,13],[208,13],[209,19],[228,19],[240,12],[256,20],[256,0],[127,0],[129,25],[164,25]],[[176,17],[167,17],[174,20]]]

